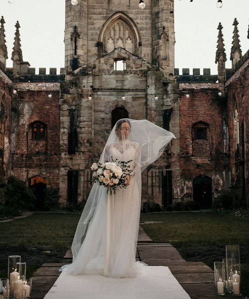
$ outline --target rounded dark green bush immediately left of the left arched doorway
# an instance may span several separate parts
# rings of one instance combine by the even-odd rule
[[[35,196],[24,181],[11,175],[5,187],[5,205],[15,210],[29,210],[34,207]]]

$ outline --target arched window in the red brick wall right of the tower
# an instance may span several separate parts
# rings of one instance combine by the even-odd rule
[[[195,156],[210,155],[210,128],[204,122],[192,126],[192,152]]]

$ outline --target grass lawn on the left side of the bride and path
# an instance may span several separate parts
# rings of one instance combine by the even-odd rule
[[[9,255],[20,255],[26,262],[27,278],[43,263],[62,262],[79,218],[73,213],[34,213],[0,222],[0,277],[7,276]]]

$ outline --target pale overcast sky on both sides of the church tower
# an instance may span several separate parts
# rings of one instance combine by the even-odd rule
[[[144,2],[146,4],[146,0]],[[217,73],[215,52],[219,22],[223,25],[226,67],[230,68],[235,17],[239,21],[242,53],[249,49],[249,0],[223,0],[222,8],[217,8],[216,3],[217,0],[175,0],[176,68],[190,68],[190,73],[192,68],[211,68],[212,74]],[[46,67],[47,73],[49,67],[56,67],[59,73],[59,68],[64,67],[65,1],[0,0],[0,13],[5,19],[7,67],[12,67],[14,25],[18,20],[23,60],[35,67],[36,73],[39,67]]]

